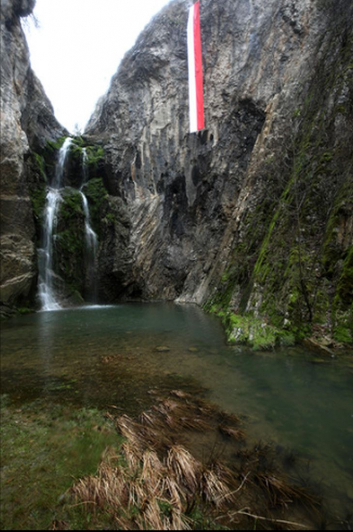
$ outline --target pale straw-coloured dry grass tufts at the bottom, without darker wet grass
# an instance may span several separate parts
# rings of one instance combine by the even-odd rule
[[[126,423],[124,419],[124,430]],[[70,492],[87,510],[111,512],[124,530],[188,530],[183,512],[190,496],[202,493],[206,502],[218,508],[218,501],[229,493],[214,471],[201,474],[201,464],[180,445],[171,446],[163,462],[150,449],[139,458],[140,447],[136,450],[131,442],[123,444],[123,452],[125,467],[116,465],[116,456],[107,453],[97,474],[79,480]]]

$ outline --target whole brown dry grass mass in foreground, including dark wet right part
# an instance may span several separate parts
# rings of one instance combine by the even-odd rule
[[[265,504],[285,509],[292,501],[314,504],[303,489],[264,469],[270,455],[267,446],[258,444],[238,452],[240,470],[231,470],[215,460],[206,467],[185,446],[176,443],[186,430],[212,430],[214,435],[218,429],[229,437],[229,445],[245,438],[242,430],[227,425],[239,423],[239,418],[192,400],[190,394],[173,390],[171,397],[142,412],[138,421],[127,415],[107,415],[125,438],[120,455],[108,450],[96,475],[79,480],[70,493],[75,503],[87,510],[110,512],[119,529],[187,530],[192,522],[186,514],[195,505],[213,516],[224,511],[229,523],[237,516],[257,517],[248,506],[240,510],[234,506],[238,503],[241,508],[242,497],[246,504],[251,497],[257,500],[259,487],[266,496],[262,499],[268,501]],[[272,528],[286,522],[258,518]]]

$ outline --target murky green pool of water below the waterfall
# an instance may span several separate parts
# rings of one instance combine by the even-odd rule
[[[225,344],[197,306],[126,304],[39,312],[2,325],[1,389],[131,415],[151,389],[191,389],[247,417],[249,438],[298,452],[338,519],[353,511],[353,363],[302,348],[253,353]],[[168,350],[158,349],[166,347]]]

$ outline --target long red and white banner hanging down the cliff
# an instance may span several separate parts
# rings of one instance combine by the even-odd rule
[[[188,20],[190,133],[205,127],[199,5],[190,7]]]

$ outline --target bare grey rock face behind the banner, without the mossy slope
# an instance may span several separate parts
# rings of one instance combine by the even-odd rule
[[[214,293],[241,220],[266,195],[265,161],[283,158],[290,121],[332,39],[324,4],[201,2],[199,134],[188,133],[188,2],[171,2],[142,32],[86,130],[104,144],[107,188],[125,205],[116,213],[123,236],[111,229],[100,253],[104,299],[204,303]]]

